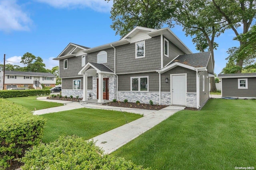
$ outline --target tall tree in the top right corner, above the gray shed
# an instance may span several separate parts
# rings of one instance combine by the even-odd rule
[[[243,34],[247,33],[252,21],[256,17],[256,0],[212,0],[218,13],[222,15],[223,20],[239,35],[238,27],[243,26]],[[240,42],[240,48],[246,44],[246,41],[237,39]],[[246,56],[238,56],[236,65],[240,66],[238,73],[241,73],[242,66]]]

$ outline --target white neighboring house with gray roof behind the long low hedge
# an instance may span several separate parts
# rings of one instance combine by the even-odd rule
[[[5,79],[3,84],[4,73],[0,71],[0,90],[8,88],[28,87],[34,89],[42,89],[42,85],[55,87],[56,76],[47,72],[23,72],[23,71],[5,71]]]

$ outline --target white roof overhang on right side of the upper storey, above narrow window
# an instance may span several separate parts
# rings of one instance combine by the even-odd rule
[[[164,37],[166,37],[169,41],[174,43],[184,53],[192,54],[192,51],[190,51],[190,49],[188,49],[188,47],[184,43],[182,43],[182,41],[169,28],[162,28],[162,29],[157,29],[155,31],[148,32],[148,35],[150,37],[156,37],[161,34]]]

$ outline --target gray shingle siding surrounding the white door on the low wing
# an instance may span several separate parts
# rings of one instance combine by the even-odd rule
[[[161,74],[161,92],[170,92],[170,74],[187,73],[187,92],[196,92],[196,71],[177,66]],[[168,83],[165,82],[168,78]]]

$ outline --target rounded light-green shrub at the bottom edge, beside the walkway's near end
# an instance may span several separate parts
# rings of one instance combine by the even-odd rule
[[[93,141],[84,141],[76,136],[60,137],[49,144],[41,143],[26,152],[20,159],[22,170],[31,169],[102,169],[102,170],[143,170],[124,158],[103,154]],[[149,169],[149,168],[148,168]]]

